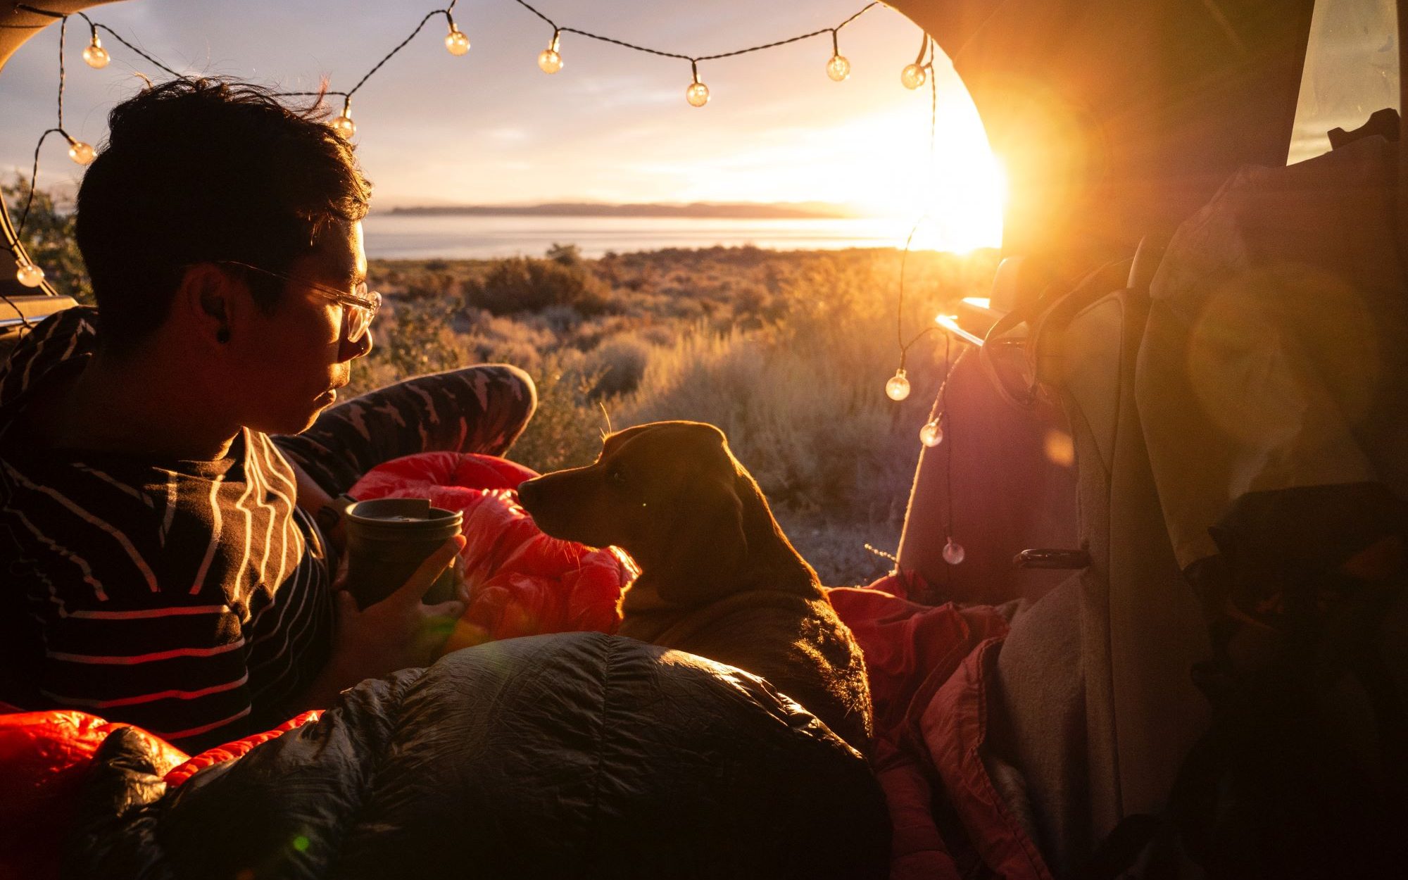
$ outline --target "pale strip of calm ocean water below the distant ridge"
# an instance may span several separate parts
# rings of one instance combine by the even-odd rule
[[[755,245],[776,251],[904,246],[908,225],[895,220],[722,220],[696,217],[551,217],[372,214],[366,252],[382,259],[542,256],[553,244],[583,256],[607,251]]]

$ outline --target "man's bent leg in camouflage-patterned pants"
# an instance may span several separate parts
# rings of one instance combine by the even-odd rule
[[[329,496],[415,452],[503,455],[538,406],[528,373],[503,363],[417,376],[331,407],[280,451]]]

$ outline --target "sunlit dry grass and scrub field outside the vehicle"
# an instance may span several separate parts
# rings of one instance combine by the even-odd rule
[[[539,410],[511,456],[590,462],[615,429],[663,418],[719,425],[825,583],[865,583],[898,542],[917,434],[943,372],[939,334],[908,352],[914,391],[884,396],[900,359],[900,253],[658,251],[583,260],[376,260],[387,296],[367,390],[482,360],[522,366]],[[912,253],[907,341],[987,289],[991,253]],[[491,291],[491,293],[486,293]],[[522,308],[514,308],[521,303]],[[490,311],[491,310],[491,311]]]

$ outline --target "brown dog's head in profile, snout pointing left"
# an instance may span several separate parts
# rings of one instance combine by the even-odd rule
[[[546,534],[624,548],[672,604],[697,604],[738,583],[749,555],[752,508],[772,514],[734,459],[724,432],[691,421],[618,431],[586,467],[518,487]],[[769,538],[772,538],[769,535]]]

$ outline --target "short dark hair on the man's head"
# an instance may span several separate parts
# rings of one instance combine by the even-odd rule
[[[372,184],[324,115],[220,79],[166,82],[113,108],[76,217],[106,346],[161,327],[186,266],[284,272],[329,224],[366,215]],[[272,310],[282,284],[246,279]]]

